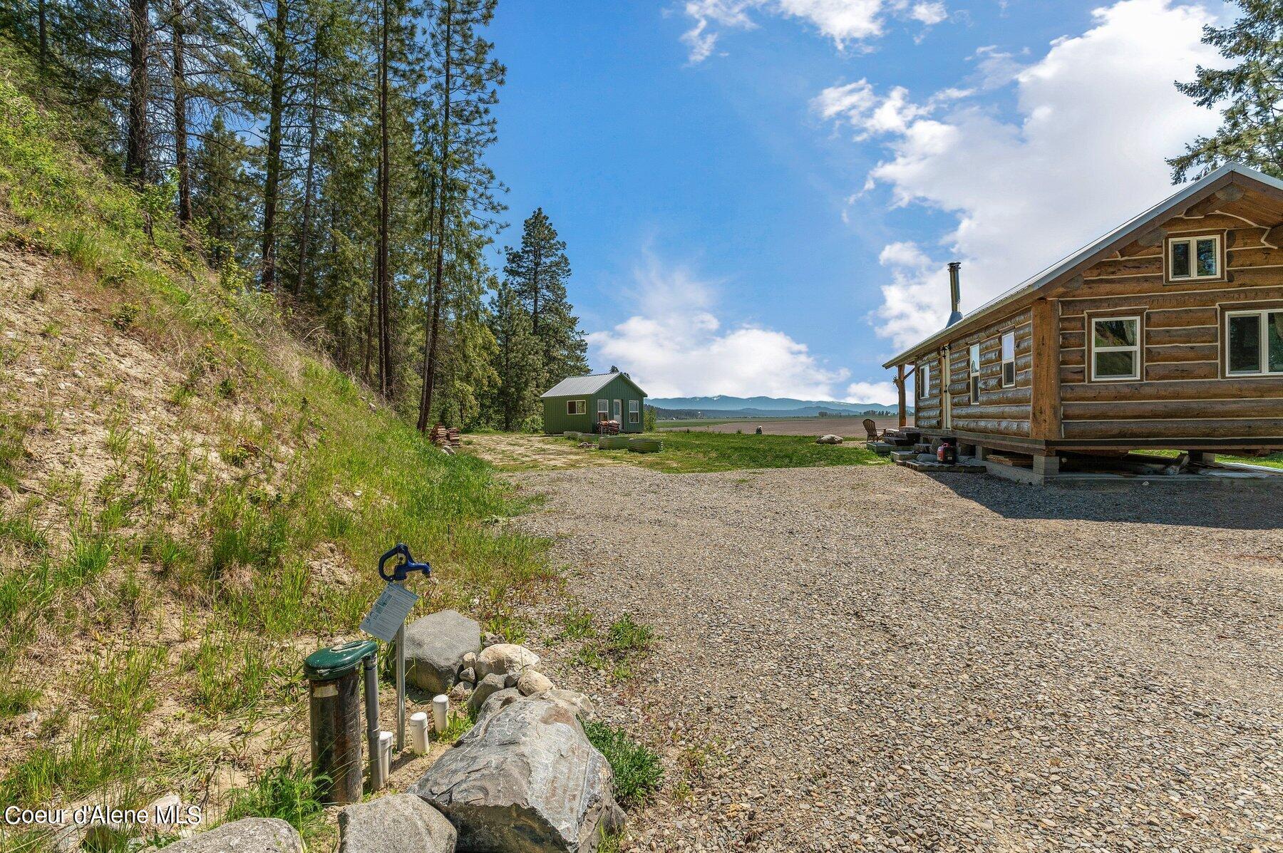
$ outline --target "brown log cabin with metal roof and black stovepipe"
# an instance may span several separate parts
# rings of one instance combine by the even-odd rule
[[[1283,181],[1227,164],[887,362],[980,459],[1283,449]]]

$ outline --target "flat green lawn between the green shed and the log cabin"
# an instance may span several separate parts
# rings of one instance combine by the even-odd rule
[[[862,441],[816,444],[801,435],[731,435],[725,432],[650,432],[663,441],[659,453],[584,449],[582,453],[624,459],[665,473],[707,473],[742,468],[815,468],[885,464]],[[552,439],[566,441],[566,439]],[[566,441],[570,444],[570,441]]]

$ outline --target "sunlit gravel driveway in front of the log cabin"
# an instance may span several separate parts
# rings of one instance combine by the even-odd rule
[[[1283,849],[1283,509],[897,467],[521,473],[640,673],[636,849]],[[621,503],[617,512],[606,508]]]

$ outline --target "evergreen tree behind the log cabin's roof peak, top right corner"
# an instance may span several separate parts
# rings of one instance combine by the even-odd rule
[[[1200,65],[1193,82],[1177,89],[1200,106],[1227,103],[1214,136],[1200,136],[1171,158],[1174,182],[1202,177],[1237,160],[1283,177],[1283,5],[1278,0],[1236,0],[1242,17],[1229,27],[1203,27],[1203,44],[1238,64]]]

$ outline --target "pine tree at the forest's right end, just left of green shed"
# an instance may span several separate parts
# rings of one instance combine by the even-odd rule
[[[503,273],[530,314],[531,334],[539,341],[538,391],[567,376],[586,373],[588,344],[566,295],[570,278],[566,241],[557,236],[543,208],[523,223],[521,246],[507,249]]]

